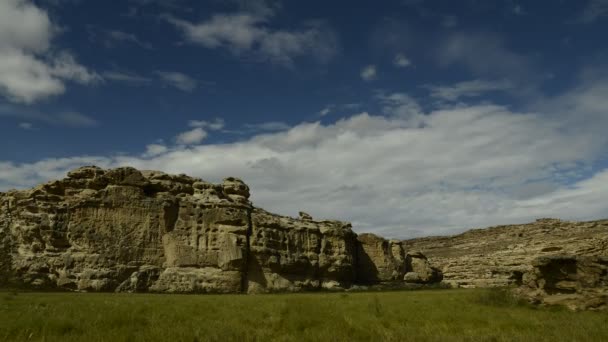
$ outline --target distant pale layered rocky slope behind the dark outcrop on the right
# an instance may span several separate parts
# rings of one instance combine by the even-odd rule
[[[520,285],[538,257],[608,256],[608,220],[540,219],[403,243],[407,250],[424,253],[454,287]]]

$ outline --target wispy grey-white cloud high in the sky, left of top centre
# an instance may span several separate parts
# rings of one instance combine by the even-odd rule
[[[268,21],[273,14],[274,11],[260,9],[216,14],[199,23],[172,16],[165,18],[183,31],[192,43],[210,49],[226,48],[235,55],[252,53],[286,66],[292,65],[295,58],[307,55],[319,62],[327,62],[337,53],[337,36],[326,24],[316,21],[298,30],[272,29]]]

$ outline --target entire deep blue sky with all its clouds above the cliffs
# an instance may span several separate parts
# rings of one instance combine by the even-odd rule
[[[608,212],[608,1],[1,0],[0,191],[243,178],[391,237]]]

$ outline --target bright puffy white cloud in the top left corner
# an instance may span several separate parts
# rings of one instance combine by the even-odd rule
[[[32,103],[65,92],[65,81],[91,84],[99,75],[65,51],[51,52],[57,28],[29,0],[0,2],[0,95]]]

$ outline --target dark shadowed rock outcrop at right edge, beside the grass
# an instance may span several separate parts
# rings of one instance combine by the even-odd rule
[[[515,293],[531,303],[608,309],[608,257],[551,256],[532,262]]]

